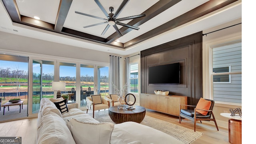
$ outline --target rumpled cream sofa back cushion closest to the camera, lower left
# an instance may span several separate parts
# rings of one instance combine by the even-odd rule
[[[37,144],[75,144],[75,141],[66,122],[55,112],[48,112],[40,120]]]

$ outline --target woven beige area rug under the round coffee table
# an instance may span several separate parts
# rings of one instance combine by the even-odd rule
[[[92,116],[92,110],[88,110],[88,114]],[[94,112],[94,118],[99,122],[112,122],[111,118],[108,116],[108,109],[100,110],[100,112]],[[194,130],[166,122],[164,120],[159,120],[151,116],[145,116],[144,120],[140,123],[146,126],[150,126],[156,130],[160,130],[170,136],[180,140],[184,144],[190,144],[202,136],[202,132],[194,132]]]

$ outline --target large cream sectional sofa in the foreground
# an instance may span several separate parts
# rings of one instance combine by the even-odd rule
[[[68,112],[62,114],[49,99],[41,100],[38,112],[37,144],[85,144],[88,142],[90,144],[183,144],[164,132],[136,122],[115,125],[100,123],[78,109],[77,103],[67,104],[67,106]],[[79,125],[74,125],[74,122],[78,122]],[[102,127],[108,131],[104,131]]]

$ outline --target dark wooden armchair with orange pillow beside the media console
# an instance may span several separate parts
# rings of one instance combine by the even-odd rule
[[[202,106],[201,102],[203,102],[204,104],[210,101],[210,108],[206,108],[207,106]],[[208,102],[209,104],[209,102]],[[182,118],[187,118],[189,120],[191,120],[192,122],[194,122],[194,131],[196,132],[196,121],[200,120],[200,122],[202,123],[201,120],[206,120],[206,121],[214,121],[215,126],[217,128],[217,130],[219,130],[214,114],[212,112],[213,110],[213,106],[214,106],[214,100],[208,100],[208,99],[203,99],[200,98],[198,104],[196,106],[192,106],[192,107],[196,107],[194,108],[194,110],[186,110],[186,109],[181,109],[181,106],[190,106],[191,105],[186,105],[186,104],[180,104],[180,122],[182,121]],[[208,110],[207,110],[208,109]],[[212,118],[211,118],[212,116]]]

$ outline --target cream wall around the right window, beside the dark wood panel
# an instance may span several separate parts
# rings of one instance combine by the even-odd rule
[[[226,24],[222,24],[219,26],[216,26],[214,28],[210,28],[208,30],[204,30],[203,34],[206,34],[208,32],[213,32],[215,30],[219,30],[222,28],[226,28],[228,26],[232,26],[234,24],[238,24],[242,22],[242,19],[233,20],[231,22],[228,22]],[[204,98],[210,98],[210,72],[209,72],[209,50],[210,46],[216,45],[216,44],[222,44],[225,42],[235,41],[235,40],[241,40],[242,39],[242,24],[238,24],[236,26],[232,26],[230,28],[226,28],[223,30],[219,30],[217,32],[213,32],[210,34],[207,34],[207,36],[203,36],[203,42],[202,42],[202,48],[203,48],[203,97]],[[223,116],[220,116],[220,113],[230,113],[230,108],[241,108],[241,105],[233,105],[233,104],[222,104],[216,102],[214,104],[214,116],[217,119],[218,126],[222,126],[225,128],[228,128],[228,118],[224,118]],[[214,124],[214,122],[209,122],[209,124]]]

